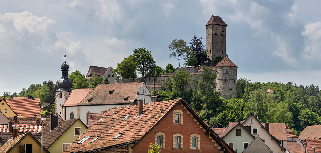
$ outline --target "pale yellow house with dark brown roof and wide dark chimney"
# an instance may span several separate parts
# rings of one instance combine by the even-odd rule
[[[55,118],[51,120],[51,123],[43,129],[43,146],[50,152],[63,152],[87,130],[87,126],[79,118],[60,122],[57,120],[56,123]]]

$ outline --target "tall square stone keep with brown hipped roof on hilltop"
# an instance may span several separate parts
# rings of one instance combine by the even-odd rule
[[[226,54],[226,27],[228,26],[220,16],[212,15],[206,26],[206,54],[213,60],[217,56],[225,57]]]

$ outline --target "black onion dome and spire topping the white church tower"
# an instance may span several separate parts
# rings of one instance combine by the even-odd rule
[[[59,89],[56,91],[71,92],[73,83],[68,79],[68,69],[69,69],[69,65],[66,63],[66,55],[65,55],[65,62],[64,64],[61,65],[61,79],[57,83]]]

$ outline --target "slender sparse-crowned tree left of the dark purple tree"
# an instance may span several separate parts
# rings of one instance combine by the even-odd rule
[[[186,46],[186,42],[183,39],[175,39],[172,41],[168,48],[170,51],[173,51],[173,53],[169,55],[169,58],[176,58],[180,67],[180,59],[182,58],[184,53],[189,50],[189,48]]]

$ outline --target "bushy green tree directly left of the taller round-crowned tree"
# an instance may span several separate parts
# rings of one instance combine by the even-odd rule
[[[117,68],[113,70],[113,73],[118,75],[118,79],[131,79],[136,78],[136,64],[134,61],[134,55],[125,57],[123,61],[117,63]]]

